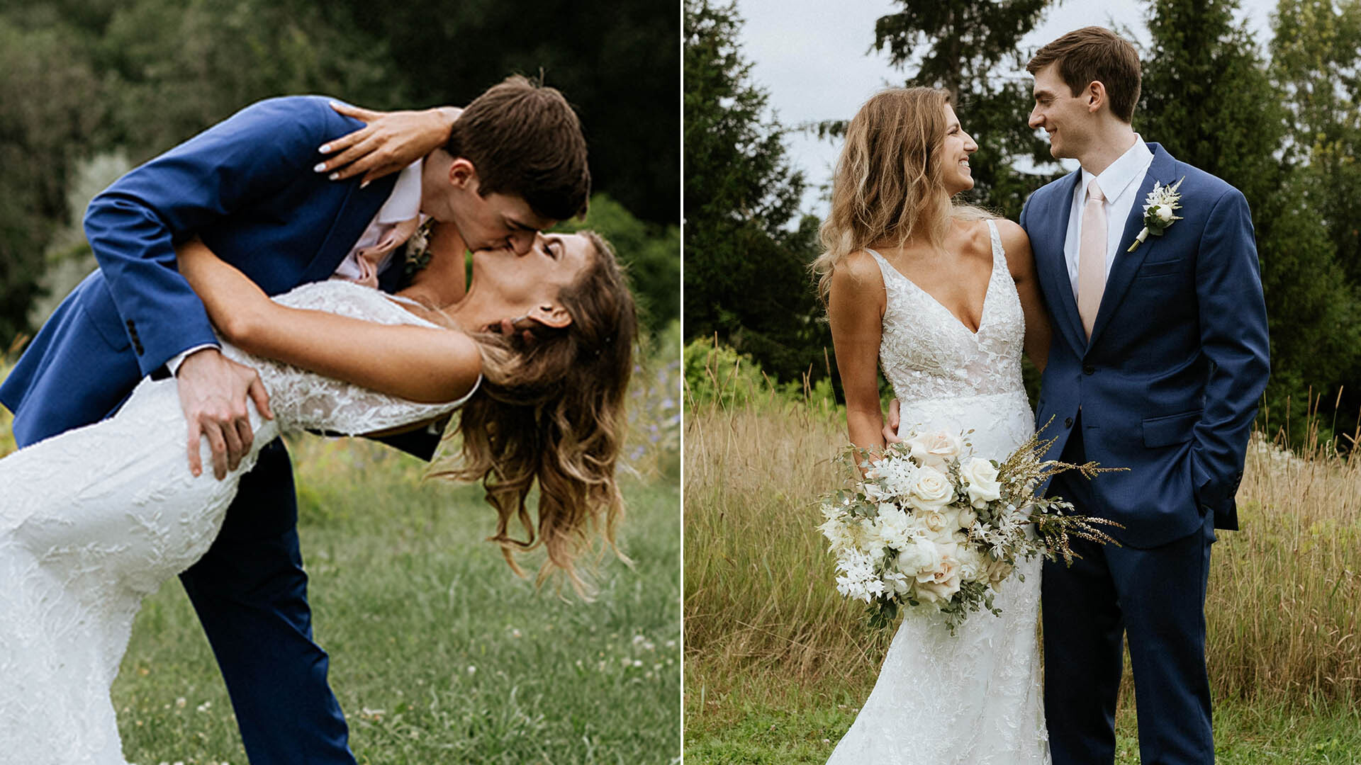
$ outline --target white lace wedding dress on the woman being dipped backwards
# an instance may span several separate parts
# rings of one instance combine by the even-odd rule
[[[305,284],[275,299],[434,327],[350,282]],[[132,619],[143,596],[208,550],[240,476],[275,436],[372,433],[467,400],[418,404],[222,350],[260,372],[275,414],[263,419],[249,407],[255,445],[225,481],[211,467],[189,472],[174,380],[144,380],[116,417],[0,460],[0,761],[122,765],[109,686]]]

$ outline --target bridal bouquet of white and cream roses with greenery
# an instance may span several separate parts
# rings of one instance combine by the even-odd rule
[[[1090,478],[1111,468],[1043,460],[1053,441],[1038,436],[1004,461],[984,460],[969,455],[969,433],[912,433],[851,489],[822,498],[818,530],[837,558],[837,591],[864,600],[871,623],[889,625],[902,604],[931,606],[953,634],[970,611],[1002,613],[992,600],[1018,558],[1071,564],[1071,538],[1113,542],[1096,528],[1113,521],[1067,515],[1072,504],[1034,495],[1066,470]],[[842,459],[855,468],[867,457],[849,449]]]

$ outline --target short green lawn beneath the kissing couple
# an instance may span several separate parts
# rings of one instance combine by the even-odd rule
[[[361,764],[648,764],[679,755],[679,493],[629,481],[599,596],[516,579],[472,486],[366,442],[294,448],[317,642]],[[568,589],[570,592],[570,589]],[[147,599],[114,683],[131,762],[244,764],[178,583]]]

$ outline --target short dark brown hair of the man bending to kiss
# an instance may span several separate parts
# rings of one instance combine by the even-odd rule
[[[520,196],[551,221],[587,211],[587,139],[577,113],[555,88],[520,75],[506,78],[468,103],[445,151],[472,162],[480,196]]]

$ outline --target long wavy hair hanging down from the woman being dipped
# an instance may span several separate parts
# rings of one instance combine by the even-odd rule
[[[638,320],[614,248],[593,231],[577,233],[595,252],[558,294],[572,323],[540,328],[532,340],[474,335],[482,350],[482,385],[450,433],[461,440],[459,453],[431,475],[482,482],[498,516],[490,540],[517,574],[524,570],[516,554],[542,546],[547,561],[536,581],[559,570],[589,598],[576,561],[593,547],[593,532],[622,557],[614,542],[623,512],[615,468],[627,429],[625,393]],[[535,483],[538,523],[528,510]],[[512,534],[512,520],[524,539]]]

